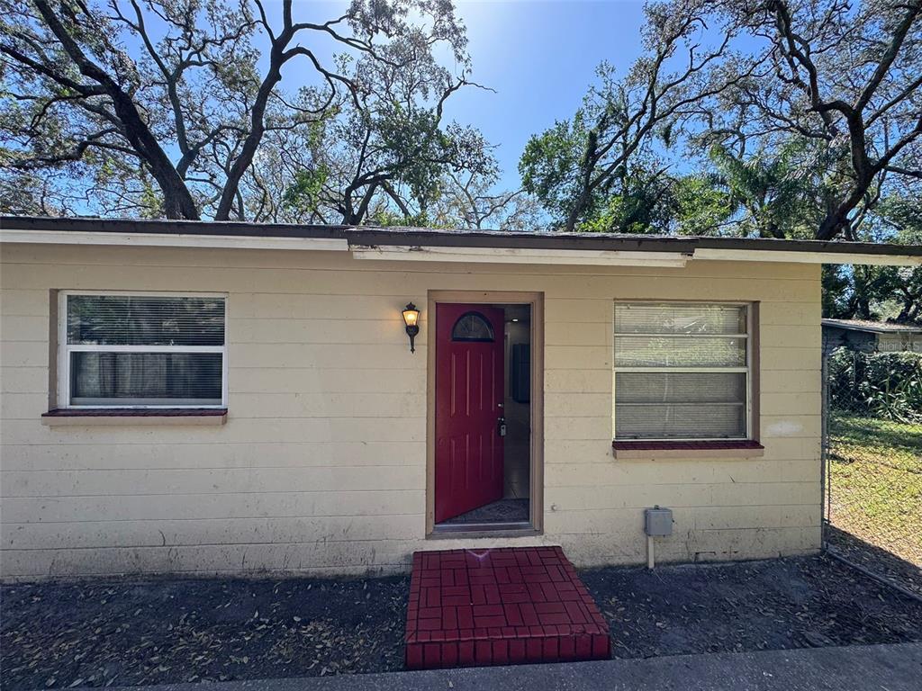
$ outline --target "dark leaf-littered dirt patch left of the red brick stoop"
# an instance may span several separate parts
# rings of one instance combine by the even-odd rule
[[[2,589],[0,686],[401,669],[409,577],[110,580]]]

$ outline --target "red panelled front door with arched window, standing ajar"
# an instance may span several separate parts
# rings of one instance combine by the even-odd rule
[[[435,522],[502,499],[502,309],[437,304]]]

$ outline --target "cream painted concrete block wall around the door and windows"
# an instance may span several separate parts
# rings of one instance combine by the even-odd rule
[[[820,546],[820,269],[362,261],[346,252],[0,248],[0,568],[344,574],[418,549],[562,545],[583,566],[644,560],[644,507],[675,510],[671,560]],[[223,427],[44,427],[52,291],[228,296]],[[429,290],[545,295],[544,533],[425,539]],[[614,299],[760,303],[761,439],[751,460],[612,457]],[[423,321],[428,317],[423,314]]]

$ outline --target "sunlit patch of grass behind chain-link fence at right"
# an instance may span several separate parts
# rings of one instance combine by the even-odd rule
[[[833,525],[922,566],[922,425],[833,416]]]

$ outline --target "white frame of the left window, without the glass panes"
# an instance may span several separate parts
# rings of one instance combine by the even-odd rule
[[[67,343],[67,298],[72,295],[130,296],[137,298],[220,298],[224,300],[224,345],[68,345]],[[58,291],[57,324],[57,407],[66,410],[152,410],[172,408],[213,408],[228,406],[228,295],[227,293],[186,293],[145,290],[60,290]],[[221,402],[220,404],[107,404],[77,405],[70,398],[70,354],[75,352],[96,353],[220,353],[221,354]]]

